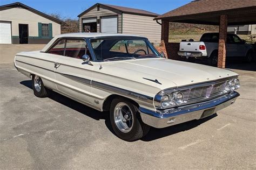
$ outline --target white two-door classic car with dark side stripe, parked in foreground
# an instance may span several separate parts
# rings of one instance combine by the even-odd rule
[[[150,126],[210,116],[234,103],[240,87],[230,70],[165,59],[147,38],[124,34],[62,34],[42,51],[16,54],[15,67],[38,97],[53,90],[110,111],[114,132],[127,141]]]

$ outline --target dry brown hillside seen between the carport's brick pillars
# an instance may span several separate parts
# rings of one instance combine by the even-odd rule
[[[170,34],[198,34],[204,32],[218,32],[219,26],[186,24],[186,23],[170,23]]]

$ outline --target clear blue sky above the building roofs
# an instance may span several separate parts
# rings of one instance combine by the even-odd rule
[[[163,14],[192,0],[0,0],[0,5],[21,2],[44,13],[60,13],[62,17],[77,15],[96,3],[126,6]]]

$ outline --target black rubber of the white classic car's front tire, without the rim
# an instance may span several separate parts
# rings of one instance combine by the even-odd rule
[[[116,108],[117,104],[125,103],[129,108],[131,109],[132,114],[132,121],[133,126],[129,132],[122,132],[119,130],[116,122],[115,122],[115,116],[114,116],[114,109]],[[113,128],[114,133],[116,133],[116,136],[120,139],[126,140],[126,141],[134,141],[138,140],[142,137],[144,137],[150,130],[150,126],[146,125],[142,122],[142,119],[140,118],[138,108],[136,105],[134,105],[132,102],[127,100],[126,98],[114,98],[114,100],[111,102],[110,106],[110,122],[111,126]]]

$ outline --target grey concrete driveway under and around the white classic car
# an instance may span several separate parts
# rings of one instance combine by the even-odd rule
[[[231,107],[126,142],[107,112],[56,93],[37,98],[28,77],[0,64],[0,168],[255,169],[256,72],[235,71],[241,96]]]

